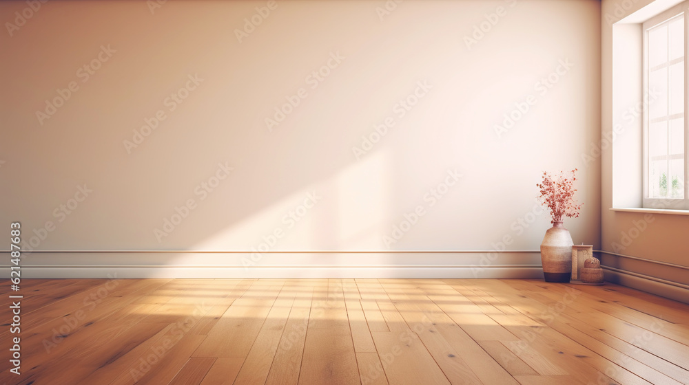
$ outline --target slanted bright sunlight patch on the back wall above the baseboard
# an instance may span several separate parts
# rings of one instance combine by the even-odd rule
[[[391,173],[387,149],[292,192],[191,250],[245,252],[370,250],[382,245]],[[241,245],[228,248],[227,245]]]

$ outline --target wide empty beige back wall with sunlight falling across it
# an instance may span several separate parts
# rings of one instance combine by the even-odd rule
[[[25,11],[32,17],[12,36],[0,34],[0,222],[21,221],[25,241],[38,234],[34,249],[249,251],[266,242],[270,251],[476,251],[470,263],[479,263],[503,239],[505,250],[538,250],[550,225],[535,206],[539,175],[575,167],[584,211],[565,225],[575,243],[600,247],[599,1],[152,3],[48,1]],[[3,23],[27,7],[1,2]],[[260,25],[245,27],[252,17]],[[70,86],[61,107],[46,107]],[[186,98],[173,102],[174,93]],[[275,109],[290,99],[298,105],[269,129],[266,118],[281,118]],[[496,130],[510,113],[522,116]],[[146,120],[156,129],[136,137]],[[380,140],[366,151],[362,137]],[[203,192],[216,174],[224,179]],[[68,204],[76,208],[61,210]],[[176,208],[181,223],[156,232]],[[40,230],[47,221],[52,231]],[[537,253],[521,263],[537,265]]]

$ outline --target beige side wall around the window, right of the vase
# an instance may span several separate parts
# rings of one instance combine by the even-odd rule
[[[633,59],[640,61],[641,51],[629,47],[620,51],[619,45],[613,47],[613,22],[650,3],[650,0],[604,0],[602,3],[603,137],[612,137],[610,133],[616,124],[624,126],[624,130],[615,137],[612,146],[606,146],[602,156],[602,250],[607,253],[601,257],[602,263],[612,268],[606,272],[606,278],[687,302],[689,274],[686,267],[689,263],[686,234],[689,216],[609,210],[613,208],[613,192],[617,207],[639,207],[641,204],[638,173],[624,177],[628,170],[641,168],[641,158],[637,156],[636,162],[631,164],[620,161],[624,157],[633,159],[630,154],[641,151],[641,122],[625,120],[624,117],[624,111],[641,100],[640,82],[636,89],[630,88],[630,84],[634,84],[630,79],[641,74],[640,65],[633,62]],[[615,39],[619,41],[641,36],[638,24],[615,25],[614,28]],[[617,62],[613,61],[613,52],[619,54]],[[633,76],[628,76],[630,74]]]

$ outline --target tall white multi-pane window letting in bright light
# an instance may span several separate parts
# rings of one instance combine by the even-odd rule
[[[644,208],[689,210],[687,4],[644,28]]]

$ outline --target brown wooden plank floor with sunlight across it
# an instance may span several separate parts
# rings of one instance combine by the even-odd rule
[[[689,305],[611,284],[23,280],[20,294],[21,375],[6,323],[0,384],[689,384]]]

